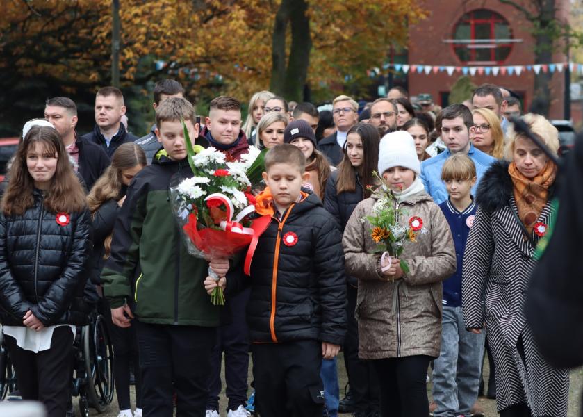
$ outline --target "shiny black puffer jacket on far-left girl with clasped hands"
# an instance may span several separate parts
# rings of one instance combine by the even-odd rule
[[[44,206],[42,192],[34,195],[34,206],[23,215],[0,213],[0,321],[22,326],[31,310],[45,326],[83,325],[90,214],[69,213],[60,225],[56,213]]]

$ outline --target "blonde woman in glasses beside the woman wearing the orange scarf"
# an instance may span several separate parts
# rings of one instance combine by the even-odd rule
[[[472,142],[477,149],[496,159],[504,157],[504,133],[498,116],[488,108],[472,111],[474,133]]]

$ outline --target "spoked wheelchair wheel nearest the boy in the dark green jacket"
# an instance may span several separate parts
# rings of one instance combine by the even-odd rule
[[[98,315],[94,324],[83,327],[82,338],[88,404],[103,413],[113,400],[113,346],[103,316]]]

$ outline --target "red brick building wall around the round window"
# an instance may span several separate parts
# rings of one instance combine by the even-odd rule
[[[520,2],[520,0],[517,1]],[[557,3],[564,3],[566,5],[564,7],[568,7],[568,0],[559,0]],[[532,65],[534,63],[534,39],[529,33],[531,24],[514,7],[502,4],[498,0],[426,0],[425,4],[430,13],[429,17],[409,28],[409,64],[463,65],[454,53],[452,44],[445,43],[443,40],[453,38],[454,27],[465,13],[482,8],[493,10],[504,16],[511,26],[513,38],[523,39],[523,42],[514,44],[507,60],[501,65]],[[562,17],[566,13],[566,10],[561,10],[559,15]],[[555,63],[564,60],[566,60],[564,54],[557,53],[553,56]],[[409,72],[409,92],[411,95],[429,92],[433,95],[434,101],[442,105],[440,93],[450,91],[460,76],[462,74],[458,72],[454,72],[452,76],[447,75],[445,71],[437,74],[431,72],[428,75],[425,72],[421,74]],[[498,76],[475,74],[475,76],[470,77],[475,85],[493,83],[517,92],[523,92],[527,107],[532,102],[534,90],[534,72],[532,71],[523,70],[520,76],[499,73]],[[562,119],[564,116],[563,72],[557,71],[552,76],[550,91],[552,97],[550,118]]]

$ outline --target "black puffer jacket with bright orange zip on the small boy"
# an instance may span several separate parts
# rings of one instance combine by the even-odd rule
[[[272,218],[259,238],[251,278],[243,278],[252,286],[247,304],[252,342],[343,343],[346,286],[341,240],[336,221],[313,194],[293,204],[281,222]]]

